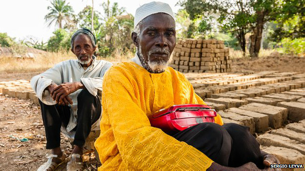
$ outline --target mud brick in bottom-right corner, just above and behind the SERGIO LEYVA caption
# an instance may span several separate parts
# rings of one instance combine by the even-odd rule
[[[305,163],[305,155],[303,155],[301,152],[298,152],[293,149],[288,149],[284,147],[274,147],[274,146],[269,146],[269,147],[261,146],[260,148],[262,151],[276,156],[280,160],[280,163],[284,163],[288,165],[301,164],[303,165],[303,168],[305,168],[305,164],[303,164]],[[304,171],[304,169],[286,168],[285,171]]]

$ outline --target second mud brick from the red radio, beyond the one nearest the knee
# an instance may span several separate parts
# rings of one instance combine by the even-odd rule
[[[266,114],[260,114],[257,112],[246,111],[239,108],[230,108],[229,112],[233,112],[240,115],[250,116],[253,117],[255,122],[255,131],[256,132],[263,132],[268,130],[269,125],[269,116]]]

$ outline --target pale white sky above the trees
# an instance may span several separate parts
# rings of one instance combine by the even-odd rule
[[[58,28],[52,24],[47,26],[44,16],[48,13],[47,6],[51,5],[50,0],[0,0],[0,33],[7,33],[8,36],[22,40],[34,37],[46,42],[52,32]],[[66,0],[78,14],[87,5],[92,5],[91,0]],[[107,0],[94,0],[94,10],[103,13],[100,4]],[[128,13],[134,16],[136,8],[153,0],[110,0],[110,3],[118,2],[119,7],[125,7]],[[161,1],[161,0],[160,0]],[[162,0],[168,3],[173,12],[180,8],[175,4],[178,0]]]

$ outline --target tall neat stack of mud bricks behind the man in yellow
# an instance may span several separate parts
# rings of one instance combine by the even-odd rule
[[[170,66],[183,73],[224,73],[231,63],[221,40],[178,39]]]

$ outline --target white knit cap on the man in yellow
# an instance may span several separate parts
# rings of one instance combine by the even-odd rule
[[[134,28],[142,19],[156,13],[165,13],[174,19],[174,13],[169,4],[152,1],[150,3],[145,3],[136,9],[134,15]]]

